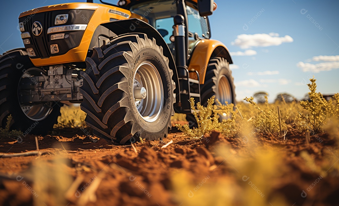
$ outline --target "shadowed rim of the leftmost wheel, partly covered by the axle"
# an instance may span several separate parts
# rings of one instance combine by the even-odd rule
[[[53,107],[52,102],[40,103],[40,104],[24,104],[20,101],[20,83],[24,78],[32,78],[33,76],[41,76],[45,73],[43,70],[38,68],[27,69],[21,76],[18,86],[18,99],[22,112],[33,121],[41,121],[51,114]],[[34,83],[34,81],[32,81]],[[23,90],[22,90],[23,91]],[[21,92],[22,92],[21,91]]]

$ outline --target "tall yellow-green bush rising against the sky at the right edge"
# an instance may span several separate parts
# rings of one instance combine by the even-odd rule
[[[298,112],[296,119],[296,128],[301,131],[310,131],[311,134],[323,132],[323,126],[331,117],[339,116],[339,93],[335,94],[329,101],[316,92],[317,84],[314,77],[310,79],[311,84],[307,84],[310,92],[310,100],[301,101],[300,105],[307,111],[306,113]]]

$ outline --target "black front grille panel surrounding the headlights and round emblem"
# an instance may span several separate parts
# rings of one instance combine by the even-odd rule
[[[47,34],[47,29],[54,26],[67,26],[73,24],[88,24],[94,10],[86,9],[64,9],[54,10],[49,12],[41,12],[21,17],[19,22],[23,22],[25,31],[31,35],[29,39],[30,44],[25,45],[25,48],[33,48],[36,56],[32,59],[48,58],[50,56],[57,56],[67,53],[70,49],[79,46],[84,31],[62,31],[57,33],[64,33],[67,38],[51,40],[51,35],[57,33]],[[68,20],[65,24],[55,25],[55,17],[59,14],[68,14]],[[42,33],[39,36],[33,35],[32,26],[34,22],[40,22],[42,26]],[[23,33],[22,32],[22,33]],[[51,45],[58,44],[59,52],[51,53]]]

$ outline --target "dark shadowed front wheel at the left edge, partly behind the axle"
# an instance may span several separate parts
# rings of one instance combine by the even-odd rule
[[[2,128],[6,126],[7,117],[12,115],[10,129],[20,130],[24,135],[44,135],[53,129],[62,104],[58,102],[23,104],[19,101],[19,85],[22,79],[30,79],[34,75],[40,75],[41,72],[44,71],[32,64],[24,49],[11,50],[0,57],[0,125]],[[34,81],[31,85],[34,85]]]

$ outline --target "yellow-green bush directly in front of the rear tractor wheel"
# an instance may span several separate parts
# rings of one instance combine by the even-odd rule
[[[181,125],[176,124],[175,126],[181,130],[185,135],[191,138],[200,139],[206,133],[211,132],[212,130],[220,131],[225,137],[231,137],[235,135],[235,112],[233,111],[233,104],[222,105],[219,101],[219,105],[213,105],[215,96],[207,100],[207,106],[204,107],[197,103],[195,106],[194,99],[191,98],[191,110],[197,121],[198,128],[190,129],[187,124]],[[219,122],[219,115],[221,114],[225,117],[230,117],[228,119],[222,120]]]

